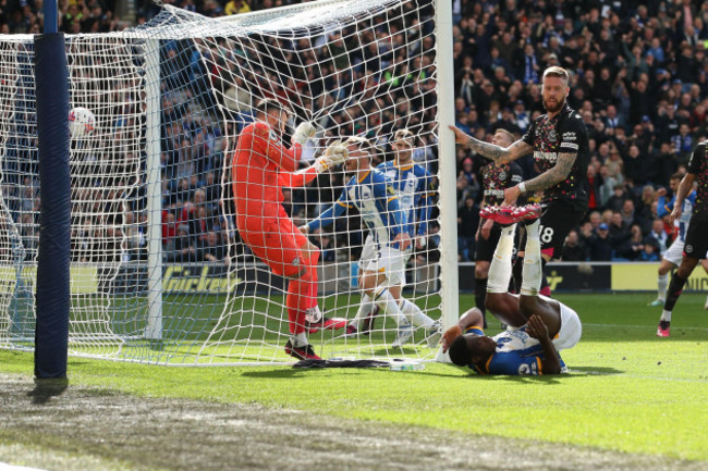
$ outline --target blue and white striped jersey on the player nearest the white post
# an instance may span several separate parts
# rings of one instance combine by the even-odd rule
[[[401,208],[410,223],[408,235],[411,237],[426,235],[435,196],[430,172],[417,163],[395,166],[393,161],[379,164],[377,170],[383,172],[393,182]]]

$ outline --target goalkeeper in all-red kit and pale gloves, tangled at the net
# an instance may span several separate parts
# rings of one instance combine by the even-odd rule
[[[319,359],[307,333],[341,329],[346,321],[322,317],[317,305],[319,249],[302,234],[281,202],[282,187],[303,186],[329,166],[346,159],[346,148],[329,146],[313,165],[297,171],[302,146],[315,136],[315,126],[301,123],[292,147],[280,140],[290,111],[273,99],[257,104],[257,120],[244,127],[232,162],[236,227],[243,241],[277,275],[288,282],[290,338],[285,352],[298,359]]]

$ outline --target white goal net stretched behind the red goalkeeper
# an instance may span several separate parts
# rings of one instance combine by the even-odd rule
[[[303,121],[317,129],[301,169],[335,140],[369,139],[371,165],[398,201],[381,211],[392,220],[400,211],[412,234],[405,282],[381,280],[368,298],[361,281],[378,270],[366,262],[381,247],[370,253],[367,210],[347,204],[309,234],[320,248],[318,305],[341,320],[338,329],[307,325],[315,352],[434,359],[439,246],[454,237],[439,223],[435,33],[426,0],[327,0],[221,18],[166,5],[133,29],[69,36],[71,107],[96,116],[90,133],[71,139],[70,354],[166,364],[293,360],[283,349],[289,280],[244,244],[232,185],[241,132],[271,98],[292,110],[274,140],[290,147]],[[32,38],[0,37],[0,346],[28,349],[41,203]],[[282,207],[304,225],[341,204],[361,184],[352,178],[329,166],[283,187]]]

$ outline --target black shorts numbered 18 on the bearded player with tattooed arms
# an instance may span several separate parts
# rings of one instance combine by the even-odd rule
[[[558,199],[541,206],[544,212],[538,227],[541,253],[550,256],[551,260],[559,259],[563,252],[567,233],[577,226],[585,215],[587,201]],[[520,249],[523,250],[525,246],[526,234],[524,234]]]

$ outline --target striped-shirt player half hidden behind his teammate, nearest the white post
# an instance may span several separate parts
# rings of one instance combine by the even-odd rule
[[[405,213],[407,219],[407,232],[411,239],[414,240],[412,245],[416,248],[423,249],[426,246],[426,237],[428,231],[428,222],[430,220],[430,212],[432,209],[432,175],[425,166],[415,163],[413,160],[413,149],[415,147],[415,136],[408,129],[399,129],[394,133],[391,141],[391,148],[395,152],[393,161],[383,162],[376,168],[381,171],[391,182],[396,196],[399,197],[399,204]],[[364,273],[371,261],[377,256],[377,244],[371,233],[366,237],[362,257],[358,262],[358,268]],[[404,251],[403,265],[407,263],[411,258],[411,251]],[[439,322],[435,325],[428,325],[427,315],[423,313],[414,302],[404,298],[401,295],[403,286],[405,286],[405,270],[401,273],[390,273],[387,280],[388,288],[393,298],[399,303],[401,312],[411,319],[415,319],[415,325],[424,325],[431,332],[434,327],[438,331],[441,329]],[[362,294],[362,303],[356,312],[356,317],[350,322],[346,327],[349,335],[358,333],[370,333],[374,329],[376,315],[379,312],[379,307],[371,302],[371,298],[366,294]],[[428,342],[431,346],[437,346],[440,340],[440,334],[431,335]],[[400,347],[413,338],[413,325],[410,322],[404,322],[399,325],[396,336],[392,347]]]

